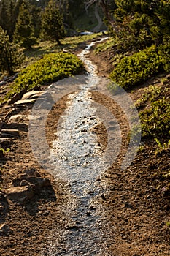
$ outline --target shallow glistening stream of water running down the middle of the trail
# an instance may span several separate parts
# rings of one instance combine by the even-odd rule
[[[95,43],[80,53],[88,69],[88,83],[69,95],[50,151],[54,176],[66,181],[69,200],[62,209],[67,224],[60,231],[53,231],[47,255],[108,255],[106,247],[112,225],[106,218],[106,209],[98,206],[98,199],[105,200],[107,188],[101,176],[108,163],[93,132],[102,120],[96,116],[90,94],[90,89],[98,83],[97,67],[88,59]],[[118,130],[115,121],[116,126]]]

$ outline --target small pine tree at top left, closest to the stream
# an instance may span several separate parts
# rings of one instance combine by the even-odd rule
[[[43,37],[56,41],[58,45],[61,45],[60,39],[63,39],[65,34],[63,18],[56,2],[53,0],[47,4],[42,15],[42,33]]]

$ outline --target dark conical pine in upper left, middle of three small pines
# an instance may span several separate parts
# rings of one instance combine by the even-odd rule
[[[24,48],[31,48],[32,45],[36,44],[31,15],[25,3],[20,6],[18,20],[15,26],[14,42],[19,42]]]

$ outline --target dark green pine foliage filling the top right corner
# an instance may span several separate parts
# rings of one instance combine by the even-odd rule
[[[169,38],[170,1],[117,0],[116,4],[115,17],[123,31],[120,37],[134,38],[136,46],[161,45]]]

